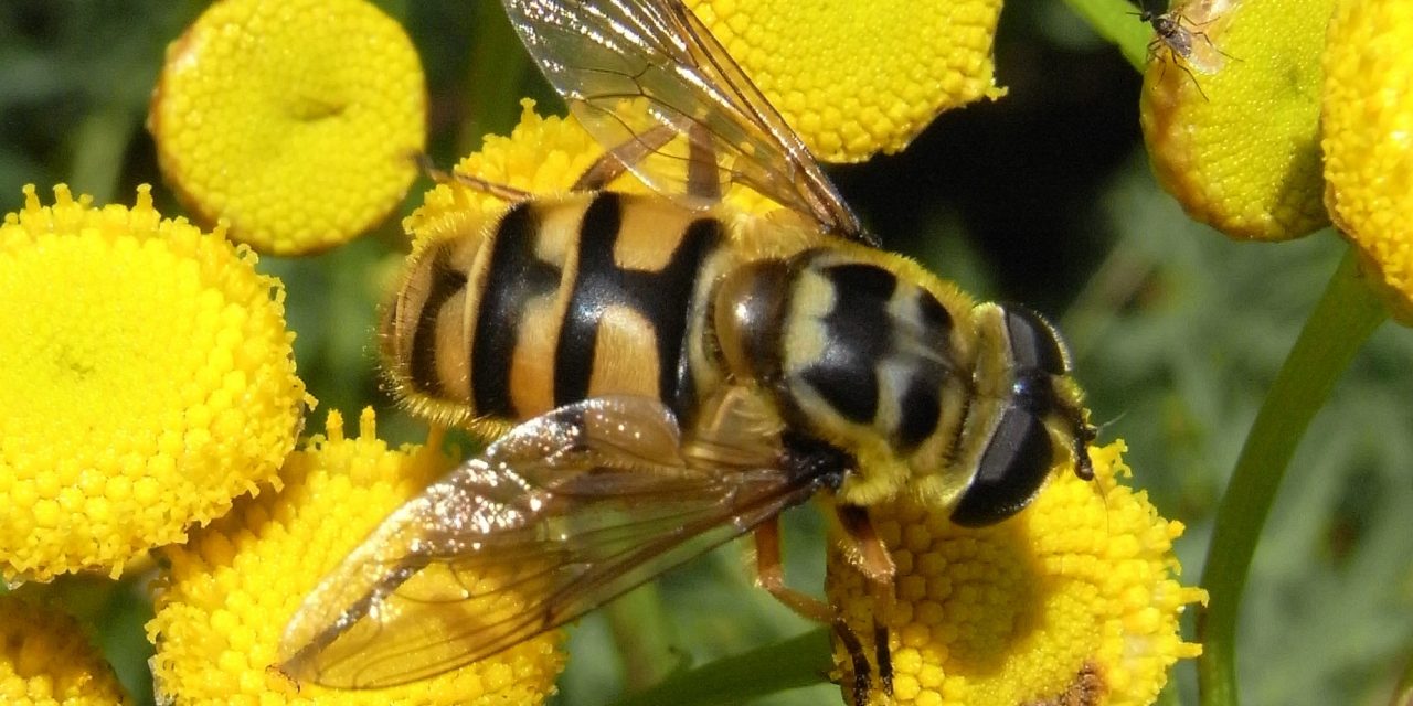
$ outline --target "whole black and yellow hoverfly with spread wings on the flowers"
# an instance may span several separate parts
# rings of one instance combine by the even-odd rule
[[[339,688],[425,678],[752,532],[760,582],[835,626],[866,692],[858,638],[784,586],[780,513],[831,494],[890,596],[868,505],[913,493],[983,525],[1058,465],[1092,476],[1065,346],[1039,315],[876,249],[680,0],[504,4],[606,154],[564,195],[458,176],[512,205],[413,257],[386,369],[414,409],[503,436],[324,579],[280,669]],[[625,169],[656,193],[606,191]],[[780,209],[738,212],[731,185]]]

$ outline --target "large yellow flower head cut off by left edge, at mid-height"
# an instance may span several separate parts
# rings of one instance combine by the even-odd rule
[[[307,401],[284,291],[147,186],[24,193],[0,225],[0,576],[116,576],[276,483]]]

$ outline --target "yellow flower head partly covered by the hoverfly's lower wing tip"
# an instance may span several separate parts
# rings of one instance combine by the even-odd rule
[[[158,699],[175,703],[538,703],[562,668],[560,633],[430,679],[377,690],[292,685],[271,669],[285,624],[393,510],[452,466],[434,448],[391,450],[372,409],[359,438],[329,412],[326,436],[290,455],[278,494],[249,498],[162,551],[157,616],[147,626]]]

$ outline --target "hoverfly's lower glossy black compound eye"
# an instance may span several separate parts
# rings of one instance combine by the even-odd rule
[[[1050,433],[1039,417],[1010,405],[996,424],[971,486],[952,508],[964,527],[996,524],[1026,507],[1044,484],[1054,462]]]

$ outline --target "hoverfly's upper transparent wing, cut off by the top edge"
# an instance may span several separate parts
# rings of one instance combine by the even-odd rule
[[[660,193],[745,184],[821,226],[870,241],[800,137],[680,0],[503,0],[550,83],[602,145]],[[709,193],[709,192],[705,192]]]

